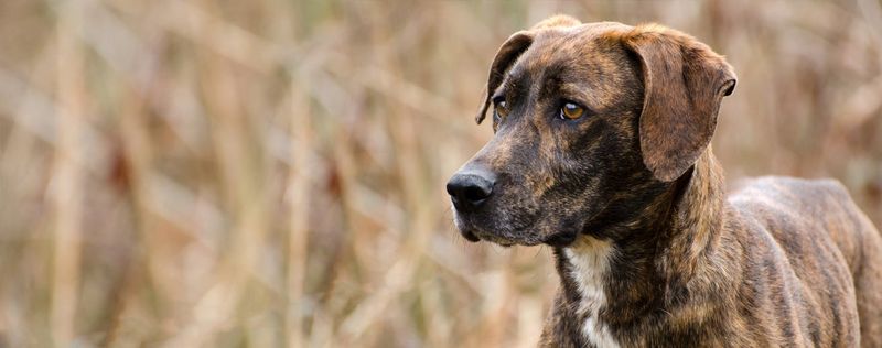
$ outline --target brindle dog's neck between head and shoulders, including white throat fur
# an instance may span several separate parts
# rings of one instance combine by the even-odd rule
[[[584,323],[582,333],[603,344],[612,337],[611,327],[682,301],[688,282],[714,272],[704,260],[720,242],[723,196],[722,170],[708,148],[691,173],[670,183],[639,214],[605,227],[626,238],[600,232],[557,248],[563,302],[558,311]]]

